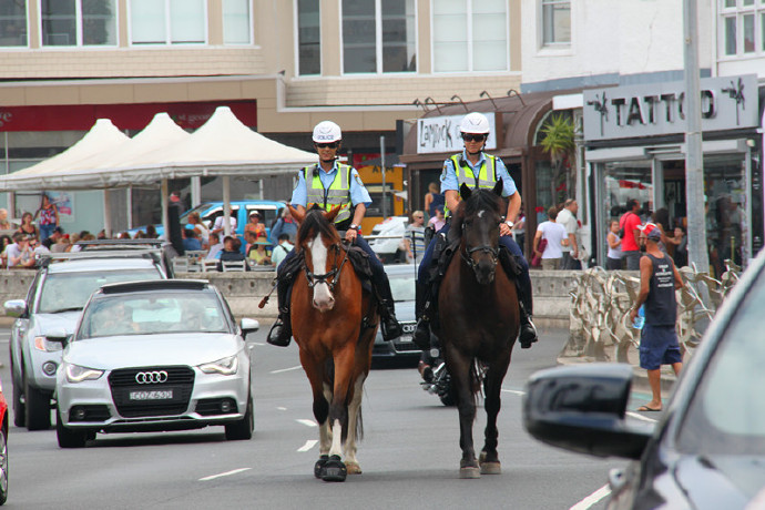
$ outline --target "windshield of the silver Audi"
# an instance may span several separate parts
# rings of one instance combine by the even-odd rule
[[[213,293],[142,293],[93,300],[78,339],[162,333],[230,333]]]

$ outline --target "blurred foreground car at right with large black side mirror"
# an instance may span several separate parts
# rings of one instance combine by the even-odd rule
[[[717,312],[655,428],[625,419],[632,367],[593,364],[533,375],[527,430],[568,450],[632,459],[609,476],[612,509],[765,508],[764,266],[765,252]]]

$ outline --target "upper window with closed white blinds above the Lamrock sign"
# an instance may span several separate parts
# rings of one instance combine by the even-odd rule
[[[431,0],[435,72],[507,71],[507,0]]]

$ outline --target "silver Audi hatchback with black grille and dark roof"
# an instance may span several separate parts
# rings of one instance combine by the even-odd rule
[[[57,436],[80,448],[96,432],[225,427],[226,439],[253,435],[247,333],[206,280],[105,285],[93,293],[76,330],[63,333]]]

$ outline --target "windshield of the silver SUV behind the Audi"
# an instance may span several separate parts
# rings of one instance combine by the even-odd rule
[[[141,279],[161,279],[157,268],[104,271],[101,273],[49,273],[40,292],[38,314],[82,309],[102,285]]]

